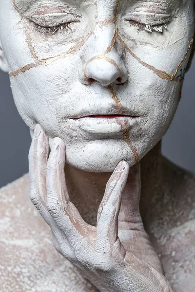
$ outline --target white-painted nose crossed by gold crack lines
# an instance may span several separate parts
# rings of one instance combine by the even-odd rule
[[[121,85],[128,73],[116,48],[116,27],[98,27],[83,50],[83,67],[80,81],[89,85],[98,82],[102,86]]]

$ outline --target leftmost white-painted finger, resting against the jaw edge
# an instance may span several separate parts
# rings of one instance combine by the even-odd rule
[[[46,163],[49,151],[48,136],[39,124],[36,125],[29,151],[30,199],[43,219],[46,209]]]

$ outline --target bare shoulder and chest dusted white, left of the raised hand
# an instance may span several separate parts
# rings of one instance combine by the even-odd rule
[[[0,292],[97,292],[55,250],[29,199],[29,177],[0,189]]]

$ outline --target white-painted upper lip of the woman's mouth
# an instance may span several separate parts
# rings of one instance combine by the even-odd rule
[[[93,105],[88,106],[86,108],[79,109],[78,112],[75,112],[73,115],[69,114],[70,119],[79,119],[86,116],[93,116],[93,115],[126,115],[131,117],[138,117],[139,115],[137,112],[131,109],[127,109],[126,107],[122,107],[122,110],[120,110],[117,107],[117,105]]]

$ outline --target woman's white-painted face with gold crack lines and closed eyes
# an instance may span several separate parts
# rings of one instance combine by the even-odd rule
[[[0,41],[21,117],[60,137],[80,169],[137,163],[175,114],[193,3],[1,0]]]

